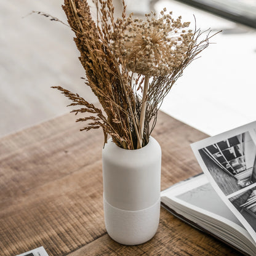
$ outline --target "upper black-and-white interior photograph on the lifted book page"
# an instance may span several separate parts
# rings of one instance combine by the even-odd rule
[[[256,186],[255,136],[255,130],[250,130],[199,150],[210,175],[226,196]]]

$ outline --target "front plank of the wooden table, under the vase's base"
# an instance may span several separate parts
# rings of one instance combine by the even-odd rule
[[[93,255],[241,255],[210,236],[186,225],[161,208],[158,232],[149,242],[139,246],[123,246],[108,234],[68,256]]]

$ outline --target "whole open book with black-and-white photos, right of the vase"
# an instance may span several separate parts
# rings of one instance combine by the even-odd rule
[[[256,122],[191,145],[204,174],[161,193],[185,222],[256,256]]]

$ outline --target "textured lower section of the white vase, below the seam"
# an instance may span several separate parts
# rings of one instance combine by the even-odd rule
[[[153,238],[158,230],[160,199],[143,210],[122,210],[111,206],[105,198],[104,214],[106,231],[120,244],[135,246]]]

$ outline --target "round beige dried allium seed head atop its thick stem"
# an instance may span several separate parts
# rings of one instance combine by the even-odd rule
[[[183,62],[184,52],[193,44],[193,34],[187,33],[186,37],[181,34],[186,33],[184,28],[189,23],[182,23],[181,17],[174,20],[164,12],[166,9],[158,19],[148,14],[146,21],[130,20],[129,24],[123,23],[121,29],[114,30],[114,51],[129,70],[148,76],[166,75]]]

